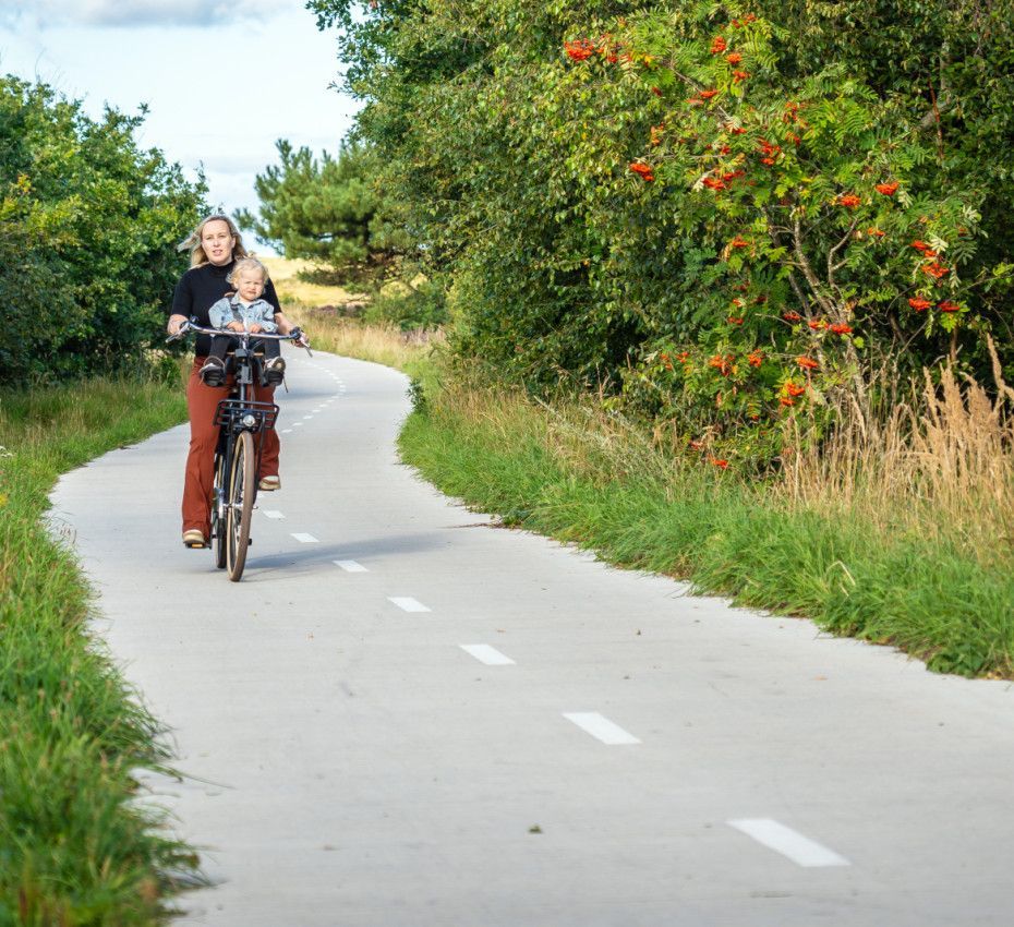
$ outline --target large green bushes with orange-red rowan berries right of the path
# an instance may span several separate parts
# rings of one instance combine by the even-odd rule
[[[1014,378],[1010,0],[310,5],[359,183],[487,382],[603,389],[763,473],[883,371],[990,383],[989,334]]]

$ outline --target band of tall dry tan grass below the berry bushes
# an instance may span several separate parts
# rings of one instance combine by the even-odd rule
[[[884,543],[910,533],[954,544],[995,566],[1014,559],[1014,389],[999,362],[994,376],[987,389],[945,366],[901,393],[880,384],[843,406],[830,437],[813,441],[806,425],[790,425],[786,445],[801,449],[766,480],[723,473],[707,448],[688,453],[678,423],[648,425],[596,396],[546,404],[445,375],[440,405],[492,446],[523,434],[563,471],[597,486],[651,485],[678,504],[691,485],[739,481],[765,507],[856,520]]]

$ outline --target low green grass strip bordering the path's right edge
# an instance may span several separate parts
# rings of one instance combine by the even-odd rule
[[[793,506],[636,440],[603,450],[580,422],[510,394],[445,389],[409,418],[400,448],[444,492],[615,564],[891,643],[933,670],[1014,675],[1010,556],[978,557],[939,525],[885,532],[859,509]]]

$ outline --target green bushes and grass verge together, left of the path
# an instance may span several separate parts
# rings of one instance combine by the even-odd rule
[[[204,185],[140,147],[143,111],[7,75],[0,117],[0,924],[161,923],[196,857],[138,792],[159,725],[43,518],[60,473],[184,417],[155,349]]]

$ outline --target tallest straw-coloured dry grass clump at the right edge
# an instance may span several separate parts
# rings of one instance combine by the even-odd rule
[[[774,491],[795,507],[861,513],[883,531],[949,537],[981,558],[1010,557],[1014,390],[989,349],[993,390],[944,366],[886,407],[852,399],[829,440],[786,457]]]

